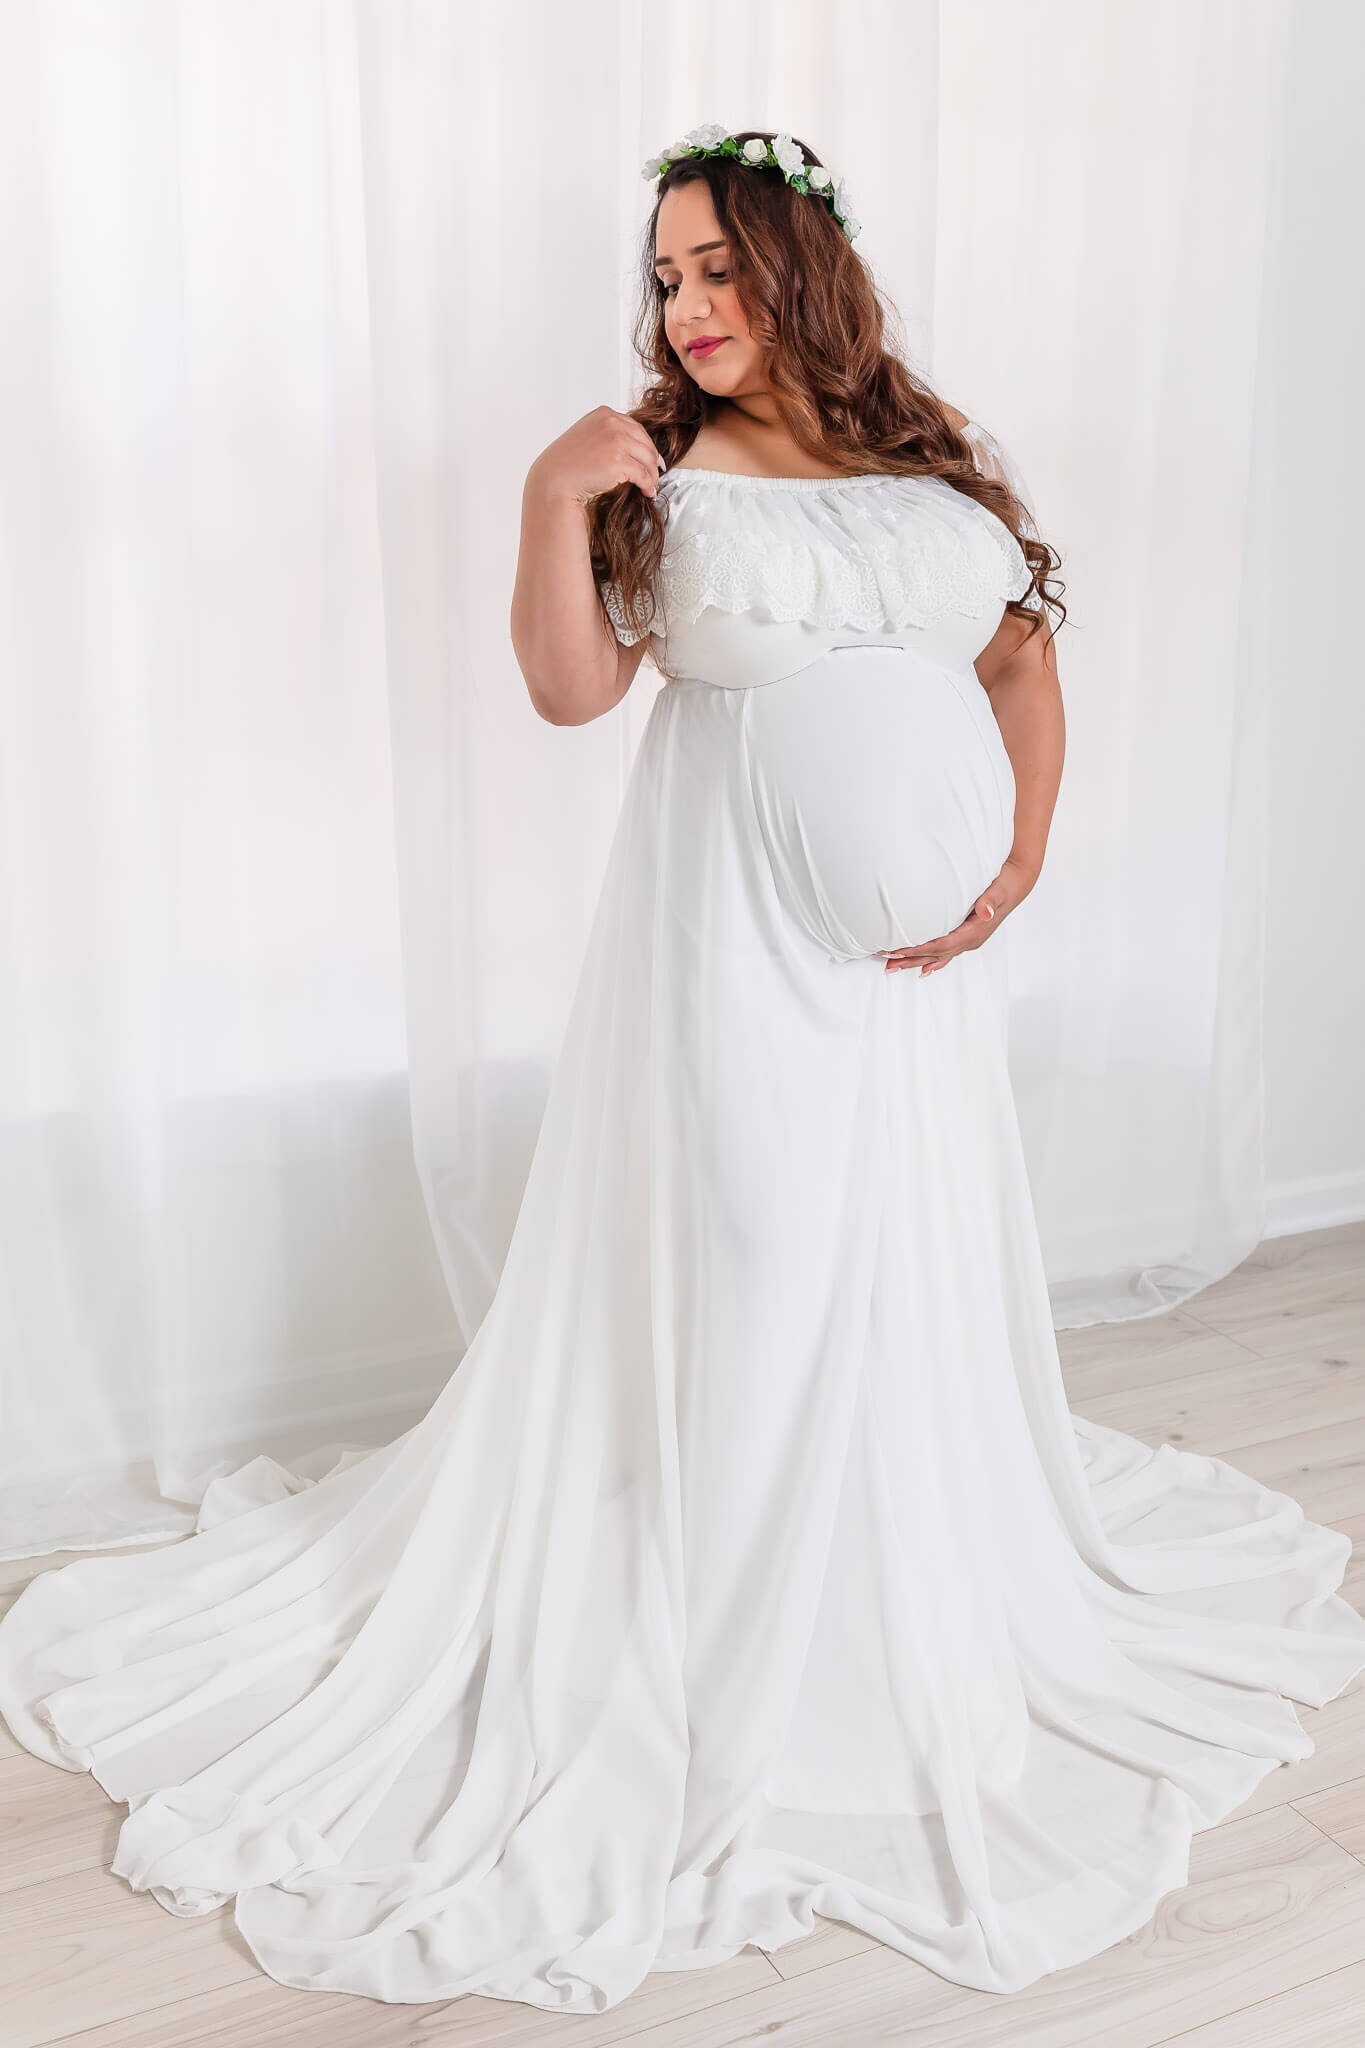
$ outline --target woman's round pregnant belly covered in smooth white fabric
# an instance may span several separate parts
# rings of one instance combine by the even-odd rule
[[[778,895],[829,952],[939,938],[999,874],[1015,782],[972,672],[835,649],[745,692],[745,743]]]

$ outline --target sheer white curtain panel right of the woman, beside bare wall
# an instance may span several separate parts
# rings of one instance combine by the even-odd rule
[[[1277,0],[941,10],[931,369],[1011,444],[1070,604],[1048,870],[1001,932],[1058,1325],[1166,1309],[1265,1231],[1283,31]]]

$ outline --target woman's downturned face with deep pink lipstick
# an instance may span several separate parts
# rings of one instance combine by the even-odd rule
[[[690,178],[663,195],[655,221],[663,330],[688,377],[712,397],[767,389],[763,350],[749,334],[729,256],[704,178]],[[698,348],[698,342],[718,346]]]

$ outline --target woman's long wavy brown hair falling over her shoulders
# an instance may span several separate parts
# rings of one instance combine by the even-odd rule
[[[745,129],[737,141],[751,135],[774,139],[767,129]],[[792,139],[808,164],[821,162],[804,141]],[[1038,594],[1040,606],[1015,598],[1007,610],[1027,618],[1031,633],[1044,623],[1042,606],[1060,623],[1066,586],[1050,580],[1060,555],[1038,537],[1009,485],[976,469],[972,446],[943,401],[886,346],[886,309],[872,270],[829,207],[792,190],[772,170],[729,158],[692,158],[673,164],[659,184],[641,238],[641,307],[632,336],[655,381],[630,418],[641,422],[663,461],[669,467],[681,461],[724,403],[708,397],[673,354],[663,328],[665,289],[655,272],[659,205],[665,193],[692,178],[710,186],[731,246],[735,293],[749,332],[767,350],[767,379],[796,444],[812,461],[849,475],[941,477],[974,498],[1009,526],[1033,571],[1025,596]],[[651,586],[663,537],[665,512],[636,483],[618,483],[589,504],[593,575],[598,584],[616,584],[626,618],[639,631],[653,623]]]

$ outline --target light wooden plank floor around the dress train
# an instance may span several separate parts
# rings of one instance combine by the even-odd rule
[[[1365,1225],[1277,1239],[1185,1309],[1062,1337],[1072,1407],[1218,1452],[1357,1538],[1365,1608]],[[0,1565],[4,1597],[47,1563]],[[164,1913],[106,1870],[125,1808],[0,1726],[0,2048],[1359,2048],[1365,2042],[1365,1677],[1300,1716],[1281,1765],[1195,1837],[1191,1882],[1093,1962],[1015,1997],[964,1991],[835,1923],[776,1956],[659,1974],[602,2017],[495,1999],[381,2005],[284,1991],[231,1909]]]

